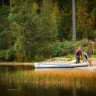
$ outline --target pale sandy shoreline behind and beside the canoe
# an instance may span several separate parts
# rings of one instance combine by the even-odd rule
[[[74,60],[73,60],[74,61]],[[56,63],[60,63],[60,64],[64,64],[64,63],[69,63],[72,61],[66,61],[65,58],[61,58],[61,57],[55,57],[54,60],[52,59],[47,59],[45,61],[41,61],[39,63],[45,63],[45,64],[56,64]],[[96,71],[96,58],[92,58],[92,66],[86,66],[86,67],[74,67],[73,70],[83,70],[83,71]],[[30,65],[30,66],[34,66],[35,62],[0,62],[0,66],[14,66],[14,65]]]

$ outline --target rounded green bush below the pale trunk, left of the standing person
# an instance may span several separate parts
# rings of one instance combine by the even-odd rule
[[[74,43],[71,41],[63,41],[63,42],[58,41],[55,44],[53,44],[51,48],[52,57],[68,55],[74,52],[75,52]]]

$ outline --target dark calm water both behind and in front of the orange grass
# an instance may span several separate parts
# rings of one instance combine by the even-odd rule
[[[0,66],[0,74],[15,73],[24,70],[34,70],[34,68],[32,66]],[[43,85],[28,88],[26,84],[22,88],[15,88],[14,84],[10,87],[6,84],[1,84],[0,96],[96,96],[96,89],[90,88],[85,90],[84,88],[64,88],[62,86],[46,88]]]

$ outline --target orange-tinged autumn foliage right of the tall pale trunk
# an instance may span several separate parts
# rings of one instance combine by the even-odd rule
[[[79,29],[78,32],[81,31],[81,36],[80,34],[79,36],[91,40],[95,39],[94,37],[96,35],[94,34],[94,31],[96,30],[95,28],[96,23],[95,23],[95,15],[92,15],[92,13],[94,14],[95,8],[93,8],[93,12],[91,13],[89,7],[92,5],[89,4],[88,0],[85,1],[78,0],[76,5],[77,5],[77,29]]]

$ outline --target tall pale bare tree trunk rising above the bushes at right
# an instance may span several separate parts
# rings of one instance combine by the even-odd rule
[[[72,0],[72,21],[73,21],[73,40],[76,41],[76,14],[75,14],[75,0]]]

